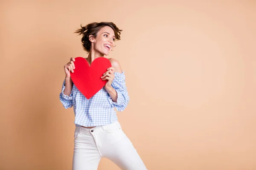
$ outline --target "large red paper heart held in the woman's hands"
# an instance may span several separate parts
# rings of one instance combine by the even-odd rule
[[[70,72],[70,77],[76,88],[90,99],[107,83],[108,80],[101,77],[111,67],[111,62],[105,57],[98,57],[89,65],[83,57],[76,57],[74,64],[75,69],[73,73]]]

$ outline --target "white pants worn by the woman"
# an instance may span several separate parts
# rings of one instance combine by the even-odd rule
[[[102,157],[122,170],[147,170],[118,121],[91,129],[76,127],[74,138],[73,170],[97,170]]]

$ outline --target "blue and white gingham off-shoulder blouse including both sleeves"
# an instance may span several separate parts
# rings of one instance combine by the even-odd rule
[[[130,100],[125,86],[125,74],[114,72],[115,78],[112,87],[117,92],[117,101],[113,102],[111,96],[103,87],[89,100],[73,84],[70,96],[65,95],[65,80],[59,95],[60,101],[65,109],[73,107],[76,126],[102,126],[117,121],[117,111],[123,111]]]

